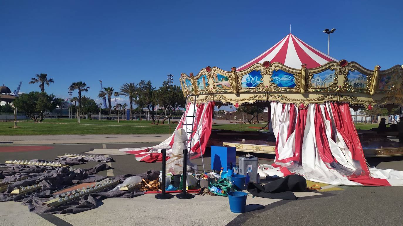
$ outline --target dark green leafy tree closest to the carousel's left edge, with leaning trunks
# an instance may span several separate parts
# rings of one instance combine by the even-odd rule
[[[164,81],[162,83],[162,86],[158,89],[157,95],[158,105],[161,108],[165,108],[166,114],[168,114],[168,116],[162,119],[162,124],[164,124],[165,120],[172,116],[172,109],[174,110],[176,108],[185,107],[186,100],[183,96],[181,87],[176,85],[172,86],[168,83],[168,81]],[[162,116],[158,118],[157,124],[159,123],[160,118],[162,118]]]

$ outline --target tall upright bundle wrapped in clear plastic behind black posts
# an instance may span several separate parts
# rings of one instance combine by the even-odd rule
[[[173,175],[183,173],[183,149],[187,149],[187,135],[184,129],[178,129],[174,132],[174,143],[172,145],[172,154],[170,159],[166,161],[166,171]],[[197,165],[191,163],[189,156],[187,157],[186,171],[197,173]]]

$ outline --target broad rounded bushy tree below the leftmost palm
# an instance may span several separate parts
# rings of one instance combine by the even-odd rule
[[[19,111],[25,112],[25,114],[35,122],[37,122],[38,118],[40,118],[39,122],[42,122],[44,115],[56,109],[54,95],[48,95],[46,92],[20,94],[15,98],[14,105]]]

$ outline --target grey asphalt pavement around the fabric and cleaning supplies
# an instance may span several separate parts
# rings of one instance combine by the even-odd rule
[[[93,143],[55,145],[0,146],[0,162],[14,159],[52,160],[64,153],[86,153],[93,150],[113,150],[128,147],[150,147],[157,143]],[[160,170],[161,163],[141,163],[133,155],[112,155],[111,172],[99,175],[122,175]],[[272,155],[262,155],[260,164],[272,163]],[[210,156],[204,156],[206,171]],[[193,160],[203,171],[202,159]],[[371,166],[403,170],[403,158],[369,159]],[[91,168],[89,162],[73,167]],[[264,181],[261,181],[264,182]],[[322,185],[323,186],[323,185]],[[106,199],[94,210],[71,215],[42,215],[30,213],[16,202],[0,203],[2,225],[402,225],[402,187],[326,186],[315,192],[297,193],[296,201],[270,200],[248,196],[248,211],[233,214],[228,199],[218,196],[197,196],[191,200],[156,200],[146,194],[130,199]]]

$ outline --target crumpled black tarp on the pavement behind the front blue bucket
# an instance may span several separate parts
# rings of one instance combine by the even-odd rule
[[[306,180],[300,175],[288,175],[284,178],[279,177],[265,185],[253,182],[247,184],[247,191],[252,195],[279,200],[297,200],[298,198],[292,191],[305,190]]]

